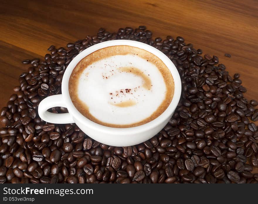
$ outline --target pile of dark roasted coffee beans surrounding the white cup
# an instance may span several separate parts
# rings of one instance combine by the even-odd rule
[[[162,51],[182,81],[181,100],[160,133],[130,147],[101,144],[75,124],[51,124],[37,113],[40,101],[61,93],[62,76],[84,49],[108,40],[140,41]],[[50,46],[45,60],[22,73],[1,109],[1,183],[257,183],[258,102],[248,101],[240,75],[231,77],[218,57],[184,38],[152,39],[145,26],[99,29],[67,48]],[[55,107],[53,113],[65,113]]]

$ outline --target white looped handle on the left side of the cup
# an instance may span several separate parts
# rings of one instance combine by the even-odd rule
[[[62,94],[48,96],[44,98],[38,106],[39,117],[48,123],[66,124],[74,123],[72,115],[70,113],[50,113],[47,110],[53,107],[65,107]]]

